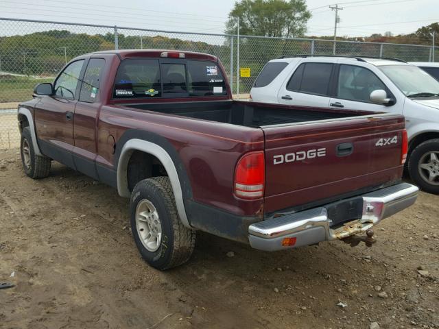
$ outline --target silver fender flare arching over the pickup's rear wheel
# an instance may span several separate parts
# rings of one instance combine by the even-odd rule
[[[131,196],[130,190],[128,189],[128,177],[126,175],[126,171],[128,169],[128,162],[133,151],[143,151],[147,154],[155,156],[161,161],[168,174],[169,180],[171,181],[178,216],[180,217],[183,225],[187,226],[187,228],[192,228],[187,217],[180,178],[178,177],[176,165],[174,164],[171,156],[169,156],[168,152],[160,145],[150,141],[144,141],[143,139],[139,138],[129,139],[123,144],[123,147],[120,151],[119,160],[117,161],[117,191],[119,195],[121,197]]]

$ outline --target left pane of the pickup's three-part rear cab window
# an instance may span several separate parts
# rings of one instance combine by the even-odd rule
[[[158,60],[123,60],[117,69],[114,98],[161,97]]]

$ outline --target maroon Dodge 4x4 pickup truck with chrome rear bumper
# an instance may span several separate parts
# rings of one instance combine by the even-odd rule
[[[56,160],[130,197],[134,241],[158,269],[189,259],[196,230],[268,251],[370,238],[418,192],[401,182],[401,115],[234,101],[204,53],[79,56],[18,117],[25,173]]]

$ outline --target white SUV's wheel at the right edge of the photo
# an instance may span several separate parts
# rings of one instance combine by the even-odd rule
[[[431,154],[434,154],[433,156]],[[422,168],[423,166],[424,168]],[[409,173],[423,191],[439,194],[439,139],[420,143],[410,154]],[[429,180],[429,178],[432,178]]]

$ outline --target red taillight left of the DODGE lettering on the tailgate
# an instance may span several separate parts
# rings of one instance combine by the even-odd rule
[[[239,159],[235,169],[235,195],[243,199],[263,197],[265,158],[263,151],[251,152]]]

